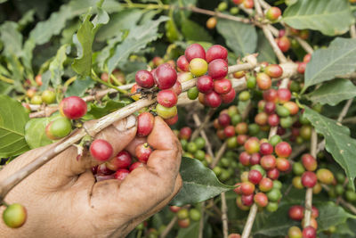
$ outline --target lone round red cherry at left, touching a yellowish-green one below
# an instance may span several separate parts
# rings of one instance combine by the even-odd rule
[[[61,115],[69,119],[80,119],[86,110],[85,101],[78,96],[66,97],[60,103]]]

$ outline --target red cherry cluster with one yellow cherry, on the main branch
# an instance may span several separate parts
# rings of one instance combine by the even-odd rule
[[[236,96],[228,75],[228,51],[222,45],[213,45],[207,51],[199,44],[187,47],[177,60],[178,69],[197,78],[197,85],[190,88],[188,97],[199,99],[203,105],[216,108],[231,103]]]

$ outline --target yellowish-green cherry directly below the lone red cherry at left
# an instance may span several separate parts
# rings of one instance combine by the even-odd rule
[[[45,127],[45,135],[51,140],[59,140],[69,135],[71,131],[72,124],[67,118],[54,119]]]

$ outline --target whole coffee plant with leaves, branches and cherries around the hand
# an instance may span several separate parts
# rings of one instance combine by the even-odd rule
[[[137,137],[172,128],[183,185],[128,237],[355,237],[355,3],[0,0],[1,168],[59,142],[0,180],[4,224],[71,146],[96,182],[145,167],[150,144],[93,139],[134,115]]]

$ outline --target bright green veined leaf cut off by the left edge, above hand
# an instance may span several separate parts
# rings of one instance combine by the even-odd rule
[[[29,150],[25,140],[28,113],[18,101],[0,95],[0,158]]]

